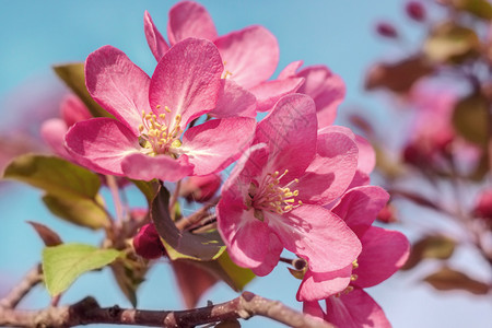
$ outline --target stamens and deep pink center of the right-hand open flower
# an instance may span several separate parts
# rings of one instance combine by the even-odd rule
[[[258,220],[263,221],[263,210],[283,214],[302,206],[301,200],[295,201],[298,190],[291,190],[291,186],[297,184],[298,179],[295,178],[286,184],[281,181],[288,173],[289,169],[285,169],[283,174],[276,171],[273,174],[267,174],[260,184],[251,181],[249,185],[250,199],[246,200],[246,206],[255,209],[255,216]]]

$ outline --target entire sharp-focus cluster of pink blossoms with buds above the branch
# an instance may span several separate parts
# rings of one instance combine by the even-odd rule
[[[54,151],[103,175],[186,178],[181,196],[201,201],[234,164],[215,207],[231,259],[267,276],[291,251],[306,313],[340,327],[388,327],[364,289],[395,273],[409,245],[373,225],[389,196],[370,185],[371,144],[333,125],[341,78],[296,61],[272,79],[280,51],[268,30],[219,36],[207,10],[190,1],[171,9],[167,42],[148,12],[144,33],[157,61],[152,75],[115,47],[92,52],[86,87],[113,117],[91,118],[77,97],[67,99],[65,120],[43,128]],[[268,114],[257,121],[259,112]],[[152,225],[134,247],[150,258],[165,253]]]

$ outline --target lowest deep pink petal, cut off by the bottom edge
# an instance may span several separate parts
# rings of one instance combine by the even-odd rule
[[[326,300],[325,319],[343,328],[391,328],[380,306],[363,290],[354,289]]]

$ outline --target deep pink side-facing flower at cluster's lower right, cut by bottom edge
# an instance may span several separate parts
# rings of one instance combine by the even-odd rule
[[[305,312],[339,327],[390,327],[377,303],[363,291],[391,277],[409,255],[405,235],[371,226],[387,199],[379,187],[363,186],[348,191],[332,209],[359,236],[362,251],[356,261],[341,270],[306,272],[297,292]],[[326,314],[317,301],[323,298]]]

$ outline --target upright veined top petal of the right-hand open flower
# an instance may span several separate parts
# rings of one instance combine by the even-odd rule
[[[285,180],[301,177],[316,152],[316,113],[313,99],[301,94],[281,98],[257,126],[255,143],[266,143],[269,165],[289,169]],[[271,172],[270,172],[271,173]]]

